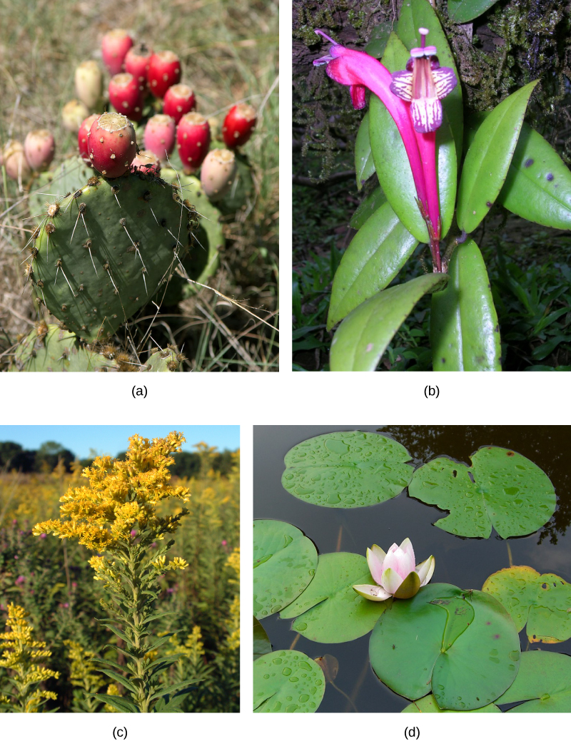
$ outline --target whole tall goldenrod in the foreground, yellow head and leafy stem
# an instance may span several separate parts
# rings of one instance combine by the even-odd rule
[[[96,572],[93,578],[103,582],[110,597],[101,602],[112,616],[100,622],[125,643],[113,648],[126,657],[126,663],[97,661],[104,665],[101,671],[128,694],[95,692],[90,697],[123,712],[176,711],[190,690],[188,681],[171,686],[161,683],[163,672],[178,656],[154,659],[152,652],[168,641],[170,634],[156,640],[151,637],[151,622],[163,617],[154,609],[160,593],[159,577],[188,565],[179,557],[167,560],[174,540],[164,542],[188,510],[182,508],[167,516],[156,512],[160,502],[169,497],[188,502],[187,488],[169,485],[168,467],[174,463],[171,453],[180,451],[182,442],[184,436],[176,432],[152,442],[133,435],[125,461],[97,457],[82,474],[89,485],[70,488],[60,499],[60,519],[40,522],[33,528],[34,535],[76,538],[96,552],[89,563]]]

